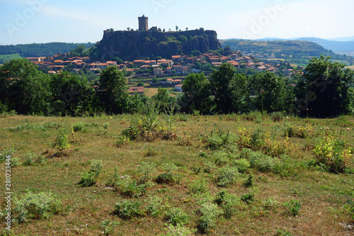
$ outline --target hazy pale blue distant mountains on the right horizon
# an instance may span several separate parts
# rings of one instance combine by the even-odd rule
[[[332,39],[322,39],[322,38],[315,38],[315,37],[289,38],[289,39],[269,37],[269,38],[258,39],[258,41],[287,41],[287,40],[302,40],[302,41],[317,43],[322,47],[326,48],[327,50],[332,50],[333,52],[337,52],[340,54],[345,54],[346,52],[348,52],[348,54],[351,54],[350,52],[354,52],[354,36],[332,38]]]

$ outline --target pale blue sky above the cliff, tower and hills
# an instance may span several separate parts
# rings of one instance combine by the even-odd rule
[[[216,30],[219,39],[354,36],[353,0],[0,0],[0,45],[95,43],[103,30]]]

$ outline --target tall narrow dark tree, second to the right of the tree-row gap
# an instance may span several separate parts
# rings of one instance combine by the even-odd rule
[[[212,75],[212,89],[215,95],[216,111],[218,113],[232,112],[232,98],[229,84],[234,79],[235,68],[232,64],[221,64],[218,70],[214,69]]]

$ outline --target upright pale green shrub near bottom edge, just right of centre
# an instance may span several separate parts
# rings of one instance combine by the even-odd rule
[[[210,233],[217,226],[217,217],[222,214],[222,210],[215,203],[202,203],[198,213],[201,215],[198,228],[202,232]]]

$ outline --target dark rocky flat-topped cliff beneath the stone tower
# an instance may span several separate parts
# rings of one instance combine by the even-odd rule
[[[202,53],[221,48],[214,30],[113,31],[106,32],[91,54],[92,60],[137,60],[144,57],[188,55],[193,50]]]

